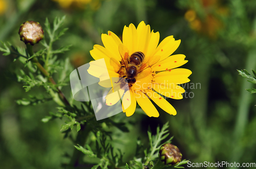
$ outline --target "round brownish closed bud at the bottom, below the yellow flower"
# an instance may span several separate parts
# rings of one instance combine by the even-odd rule
[[[181,161],[182,154],[177,146],[166,143],[160,147],[159,158],[164,164],[178,164]]]

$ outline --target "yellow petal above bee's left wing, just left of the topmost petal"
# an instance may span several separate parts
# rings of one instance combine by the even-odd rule
[[[137,43],[138,43],[137,30],[134,24],[131,23],[129,27],[124,26],[123,45],[129,49],[130,55],[135,51],[137,51],[137,48],[138,48]]]

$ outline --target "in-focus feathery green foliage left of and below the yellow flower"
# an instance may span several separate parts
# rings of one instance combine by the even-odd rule
[[[50,112],[50,116],[46,116],[41,121],[44,123],[49,122],[50,120],[56,118],[64,118],[66,117],[68,120],[65,121],[65,124],[61,125],[60,131],[65,133],[65,138],[69,137],[71,140],[71,131],[76,126],[76,131],[80,132],[77,134],[76,140],[73,142],[77,144],[75,148],[78,151],[81,151],[88,157],[96,158],[97,162],[96,165],[93,164],[92,168],[117,168],[124,166],[124,162],[122,161],[123,153],[120,149],[116,152],[114,150],[114,146],[110,144],[109,137],[111,137],[111,132],[105,131],[102,129],[100,124],[105,123],[109,126],[115,126],[119,128],[123,132],[128,132],[129,130],[125,127],[125,123],[115,122],[111,119],[101,120],[100,122],[96,122],[95,116],[93,115],[93,109],[90,102],[84,102],[79,109],[76,105],[72,105],[69,101],[63,96],[63,93],[60,91],[60,88],[63,86],[67,86],[68,74],[71,72],[70,65],[68,64],[67,59],[65,61],[60,61],[57,58],[58,53],[65,52],[69,50],[69,46],[60,47],[58,49],[53,49],[53,43],[56,40],[64,35],[64,33],[68,29],[60,29],[61,25],[63,24],[65,17],[55,18],[53,22],[53,29],[51,29],[50,23],[48,19],[46,19],[45,26],[46,26],[46,33],[49,37],[49,43],[44,39],[41,43],[45,48],[39,50],[36,53],[33,53],[30,50],[30,45],[27,45],[27,50],[22,48],[15,48],[13,45],[9,44],[8,47],[5,43],[3,43],[4,48],[0,48],[1,51],[5,52],[5,55],[15,54],[20,62],[24,64],[25,67],[28,67],[27,70],[20,69],[19,73],[17,74],[17,81],[24,84],[24,89],[26,92],[31,91],[34,87],[44,87],[48,96],[41,95],[41,97],[36,96],[29,96],[29,98],[18,99],[16,102],[20,105],[28,106],[30,104],[36,105],[39,103],[44,103],[46,101],[54,100],[60,107],[56,107],[58,112],[53,113]],[[10,49],[11,48],[11,49]],[[44,65],[42,66],[38,60]],[[52,76],[56,72],[61,72],[58,78],[58,82],[56,83]],[[142,145],[138,140],[137,151],[136,155],[142,154],[144,152],[144,157],[134,157],[132,161],[130,161],[131,165],[129,166],[127,163],[125,168],[143,168],[144,166],[148,165],[149,163],[151,166],[154,167],[153,161],[158,158],[158,151],[160,146],[164,143],[169,143],[172,138],[167,138],[169,135],[168,133],[168,123],[163,125],[162,129],[157,127],[157,134],[152,135],[151,131],[149,130],[148,138],[150,142],[150,148],[142,149]],[[84,136],[90,134],[90,131],[94,132],[96,140],[95,140],[95,149],[92,149],[89,144],[85,145],[83,148],[86,138]],[[165,142],[163,142],[165,140]],[[74,163],[73,159],[77,158],[78,161],[81,156],[76,156],[77,152],[73,154],[71,157],[71,162],[69,164],[63,164],[65,167],[71,167],[78,165],[76,162]],[[180,164],[185,164],[187,161],[183,161]],[[178,164],[177,166],[179,166]],[[169,167],[166,167],[169,168]]]

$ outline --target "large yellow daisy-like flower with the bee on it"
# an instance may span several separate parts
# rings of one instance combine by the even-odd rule
[[[137,102],[147,116],[159,117],[159,113],[151,100],[168,114],[177,114],[175,108],[161,95],[172,99],[182,99],[182,93],[185,90],[178,85],[190,81],[188,76],[192,72],[188,69],[177,68],[187,63],[184,60],[185,55],[171,55],[180,45],[180,40],[175,41],[173,36],[168,36],[158,45],[159,37],[159,32],[151,32],[150,25],[145,25],[144,21],[139,23],[137,29],[131,23],[129,27],[124,26],[123,42],[113,32],[109,31],[108,34],[101,35],[104,47],[94,45],[93,50],[90,51],[93,59],[104,59],[108,69],[108,73],[102,72],[99,65],[95,65],[93,62],[90,63],[88,72],[100,78],[101,81],[108,74],[111,78],[123,77],[129,82],[126,70],[132,66],[137,68],[137,74],[130,78],[128,92],[120,92],[121,96],[124,93],[122,107],[126,116],[134,114]],[[126,60],[131,59],[131,55],[134,52],[138,51],[144,55],[144,59],[139,65],[136,65],[132,60],[129,63],[126,62]],[[136,79],[136,82],[131,80],[133,78]],[[104,87],[101,81],[99,85]],[[118,84],[118,80],[113,84]],[[111,90],[109,94],[112,92]],[[120,98],[108,97],[107,95],[105,99],[106,105],[111,106],[118,102]]]

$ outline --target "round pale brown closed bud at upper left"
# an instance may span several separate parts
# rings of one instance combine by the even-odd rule
[[[34,45],[44,38],[44,30],[42,26],[35,21],[26,21],[19,27],[20,40],[25,44]]]

